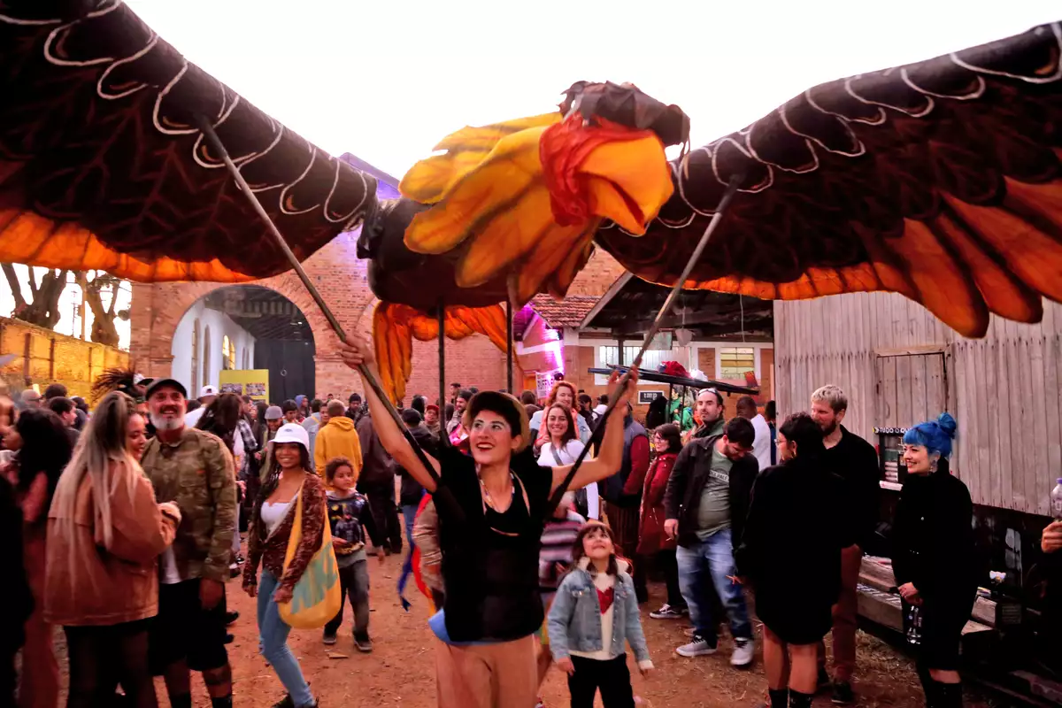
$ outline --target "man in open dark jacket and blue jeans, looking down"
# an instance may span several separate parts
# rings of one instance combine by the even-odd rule
[[[752,452],[756,432],[746,418],[727,422],[722,434],[690,441],[674,462],[664,496],[664,532],[679,538],[679,586],[689,607],[693,637],[676,651],[682,656],[715,654],[710,577],[726,608],[734,654],[731,663],[752,663],[755,646],[741,586],[735,575],[734,548],[741,542],[749,498],[759,466]]]

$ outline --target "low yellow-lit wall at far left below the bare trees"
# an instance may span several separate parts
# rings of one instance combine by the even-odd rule
[[[104,369],[127,366],[130,356],[121,349],[84,342],[50,329],[0,317],[0,352],[16,355],[0,368],[8,384],[38,384],[41,393],[50,383],[62,383],[70,396],[89,400],[92,381]]]

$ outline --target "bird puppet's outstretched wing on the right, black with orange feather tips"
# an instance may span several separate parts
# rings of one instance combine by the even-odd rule
[[[741,191],[688,288],[803,299],[893,291],[967,336],[1062,301],[1062,25],[816,86],[672,163],[640,238],[597,242],[679,277],[725,185]]]

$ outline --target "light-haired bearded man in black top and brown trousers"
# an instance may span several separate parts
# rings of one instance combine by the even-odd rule
[[[877,528],[878,484],[877,452],[874,446],[849,432],[841,421],[847,412],[849,399],[834,385],[822,386],[811,394],[811,417],[822,429],[823,457],[830,472],[843,480],[844,505],[853,524],[855,545],[841,551],[841,590],[834,605],[834,696],[843,706],[855,701],[852,674],[856,668],[856,622],[858,619],[859,566],[862,549],[868,548]],[[844,510],[838,510],[840,513]],[[819,650],[819,679],[828,680],[825,671],[826,646]]]

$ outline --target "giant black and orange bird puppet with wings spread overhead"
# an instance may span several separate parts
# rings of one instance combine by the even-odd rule
[[[139,281],[276,275],[289,256],[238,171],[297,260],[364,226],[396,397],[440,308],[446,335],[501,343],[497,304],[563,296],[595,246],[673,284],[732,184],[685,288],[897,292],[967,336],[991,313],[1034,323],[1042,297],[1062,301],[1058,23],[812,87],[671,162],[665,145],[688,136],[678,107],[578,83],[555,113],[443,139],[384,203],[115,0],[5,3],[0,84],[0,261]]]

